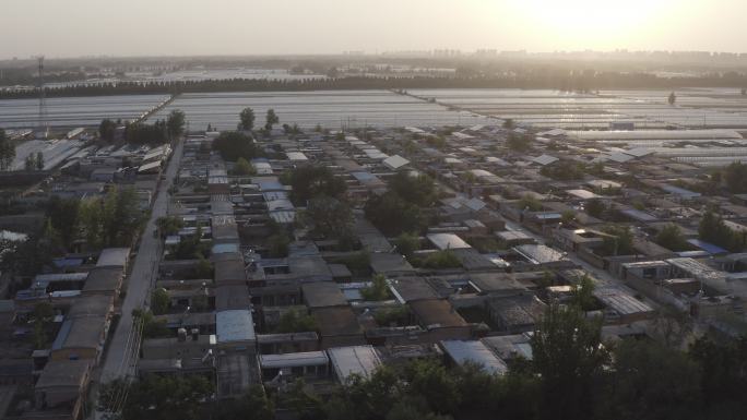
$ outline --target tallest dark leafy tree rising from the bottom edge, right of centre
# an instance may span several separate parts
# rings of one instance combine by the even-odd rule
[[[542,419],[593,419],[594,377],[607,362],[600,346],[602,322],[586,320],[573,307],[552,304],[531,339],[533,365],[541,377]]]

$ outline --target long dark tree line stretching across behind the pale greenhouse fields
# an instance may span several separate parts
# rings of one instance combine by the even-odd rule
[[[747,75],[726,72],[697,77],[660,77],[650,73],[597,71],[543,71],[527,69],[506,75],[458,73],[453,76],[346,76],[334,79],[117,82],[46,87],[48,97],[178,94],[205,92],[344,91],[407,88],[553,88],[593,92],[607,88],[735,87],[744,88]],[[0,99],[35,98],[37,89],[0,91]]]

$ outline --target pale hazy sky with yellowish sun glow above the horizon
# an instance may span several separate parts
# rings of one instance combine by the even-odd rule
[[[2,0],[0,58],[669,49],[747,52],[747,0]]]

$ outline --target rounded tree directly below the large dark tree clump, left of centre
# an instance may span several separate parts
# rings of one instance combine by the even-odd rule
[[[320,195],[309,201],[303,219],[311,226],[311,235],[327,239],[352,237],[353,213],[344,202]]]

